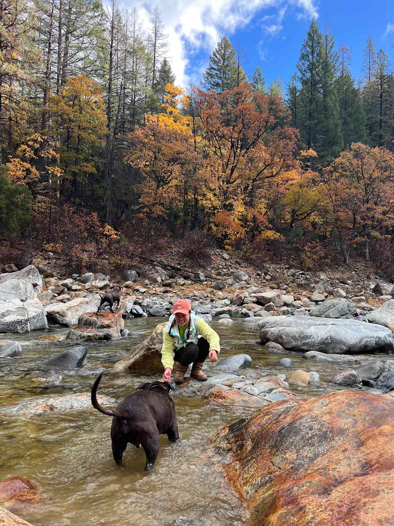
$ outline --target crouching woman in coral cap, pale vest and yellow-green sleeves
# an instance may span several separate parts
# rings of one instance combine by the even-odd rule
[[[206,358],[217,360],[220,352],[219,335],[192,312],[189,301],[185,299],[175,301],[172,312],[163,330],[163,380],[171,382],[171,373],[174,371],[174,382],[182,383],[191,363],[193,367],[190,377],[208,380],[202,368]]]

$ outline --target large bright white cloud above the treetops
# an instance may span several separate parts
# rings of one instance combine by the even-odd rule
[[[130,10],[135,6],[143,26],[150,27],[149,19],[155,0],[120,2]],[[231,36],[237,29],[245,27],[258,12],[266,8],[279,9],[275,22],[266,27],[267,34],[273,36],[282,29],[287,4],[298,7],[301,16],[316,18],[314,2],[315,0],[161,0],[158,7],[168,34],[168,56],[177,84],[185,87],[191,83],[198,84],[208,65],[208,56],[221,36]],[[193,54],[201,50],[206,53],[206,59],[196,63]],[[266,50],[262,49],[259,53],[264,54]],[[187,74],[186,69],[191,70],[191,73]]]

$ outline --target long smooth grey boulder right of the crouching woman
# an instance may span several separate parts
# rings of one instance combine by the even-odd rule
[[[272,316],[259,320],[257,325],[263,343],[274,341],[294,351],[354,354],[394,349],[389,329],[359,320]]]

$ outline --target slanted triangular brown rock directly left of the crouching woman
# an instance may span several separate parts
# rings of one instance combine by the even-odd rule
[[[115,363],[113,371],[162,371],[161,348],[163,329],[167,323],[159,323],[149,338],[137,345],[131,353]]]

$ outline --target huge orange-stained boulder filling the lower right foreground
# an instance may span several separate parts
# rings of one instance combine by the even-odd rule
[[[217,431],[253,526],[392,526],[394,391],[281,400]]]

